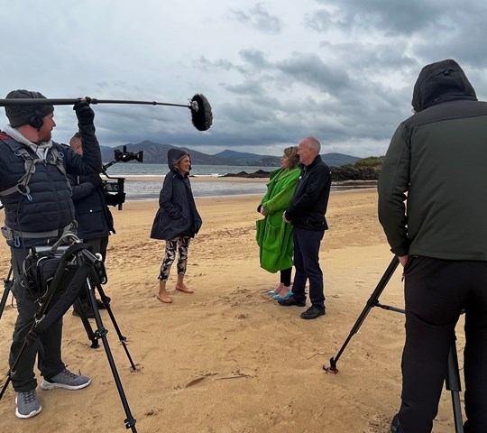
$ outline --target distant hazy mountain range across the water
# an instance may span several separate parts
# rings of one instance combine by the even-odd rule
[[[170,149],[181,149],[191,155],[193,165],[232,165],[232,166],[253,166],[253,167],[280,167],[280,156],[259,155],[257,153],[236,152],[225,150],[214,155],[198,152],[187,147],[172,146],[170,144],[154,143],[145,140],[141,143],[127,143],[117,147],[100,146],[102,160],[104,163],[115,161],[115,150],[124,152],[124,148],[130,159],[136,160],[139,152],[143,152],[143,162],[146,164],[167,164],[168,151]],[[120,155],[120,153],[118,153]],[[342,166],[354,164],[360,158],[342,153],[324,153],[321,155],[323,161],[329,166]]]

